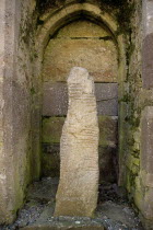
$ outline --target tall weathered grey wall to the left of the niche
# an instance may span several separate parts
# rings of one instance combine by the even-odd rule
[[[34,11],[35,1],[0,2],[0,222],[15,218],[27,184],[39,177],[37,152],[32,156]]]

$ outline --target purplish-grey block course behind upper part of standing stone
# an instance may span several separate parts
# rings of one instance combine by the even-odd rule
[[[118,84],[95,83],[98,115],[118,115]],[[61,116],[68,111],[68,89],[64,82],[45,82],[43,115]]]

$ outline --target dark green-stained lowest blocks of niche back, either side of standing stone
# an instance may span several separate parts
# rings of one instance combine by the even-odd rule
[[[64,117],[43,119],[43,175],[59,176],[60,137]],[[118,118],[98,116],[99,127],[99,183],[115,182],[117,164]],[[111,169],[111,170],[109,170]]]

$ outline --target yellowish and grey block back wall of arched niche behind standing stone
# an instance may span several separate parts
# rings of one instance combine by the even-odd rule
[[[74,66],[87,69],[95,82],[99,126],[101,182],[117,180],[118,58],[111,33],[78,20],[50,38],[43,64],[43,174],[59,176],[59,143],[68,111],[67,78]],[[109,170],[111,169],[111,170]]]

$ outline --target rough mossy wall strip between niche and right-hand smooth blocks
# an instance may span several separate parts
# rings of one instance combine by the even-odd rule
[[[122,113],[120,118],[122,127],[119,133],[123,138],[120,142],[120,184],[126,185],[128,191],[128,181],[123,181],[126,176],[134,177],[139,171],[140,159],[140,107],[139,107],[139,92],[141,91],[141,42],[142,42],[142,27],[141,27],[141,4],[134,1],[132,4],[132,14],[129,22],[129,31],[125,34],[126,41],[126,64],[127,77],[123,81],[125,93],[120,99],[120,106]],[[125,163],[127,173],[125,171]],[[129,171],[134,170],[136,172]],[[126,184],[125,184],[126,183]],[[132,183],[132,181],[130,182]],[[131,184],[131,188],[133,185]],[[133,187],[134,191],[134,187]],[[132,193],[132,191],[130,191]]]

